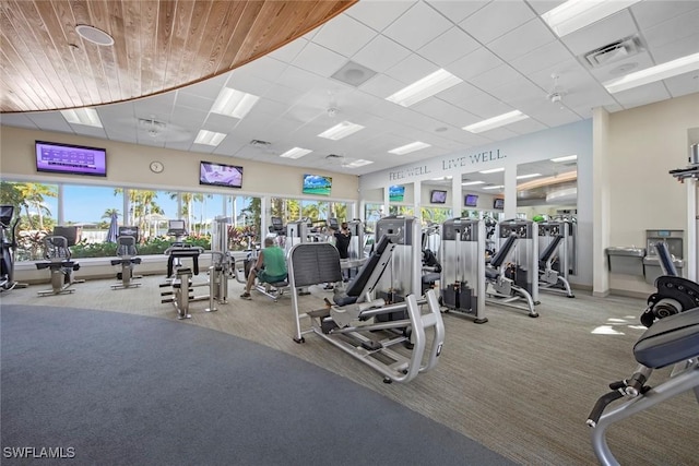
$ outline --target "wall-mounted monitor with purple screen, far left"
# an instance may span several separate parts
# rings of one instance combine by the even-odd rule
[[[107,151],[98,147],[36,141],[36,171],[107,176]]]

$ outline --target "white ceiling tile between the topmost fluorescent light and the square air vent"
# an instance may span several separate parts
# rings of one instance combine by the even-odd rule
[[[631,36],[638,32],[633,17],[628,10],[597,21],[582,29],[570,33],[561,37],[561,41],[574,55],[582,55],[590,50],[606,46],[624,37]]]

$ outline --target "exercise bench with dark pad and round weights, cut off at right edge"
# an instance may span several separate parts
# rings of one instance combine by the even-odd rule
[[[641,316],[649,328],[633,346],[637,369],[628,379],[611,383],[612,391],[597,399],[588,416],[592,449],[602,465],[619,464],[606,441],[606,431],[615,422],[689,391],[699,402],[699,285],[666,275],[655,286],[657,292],[649,298]],[[671,366],[668,379],[654,387],[648,385],[654,370]],[[621,398],[621,405],[605,413]]]

